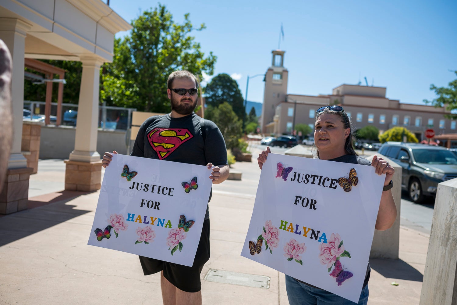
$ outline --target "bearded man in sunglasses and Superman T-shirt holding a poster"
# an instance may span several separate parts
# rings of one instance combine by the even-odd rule
[[[223,182],[229,172],[227,150],[216,124],[200,118],[194,112],[198,99],[197,77],[189,71],[175,71],[168,77],[167,87],[171,112],[162,116],[153,116],[144,121],[138,131],[131,155],[206,165],[208,169],[212,168],[209,179],[214,184]],[[112,154],[106,152],[103,155],[102,165],[106,167],[110,161],[112,161]],[[208,202],[210,199],[211,194]],[[202,304],[200,273],[209,255],[207,207],[202,235],[192,267],[149,257],[139,258],[144,275],[160,271],[164,305],[200,305]]]

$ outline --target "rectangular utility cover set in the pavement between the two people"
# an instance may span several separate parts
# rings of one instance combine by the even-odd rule
[[[209,269],[205,275],[208,282],[240,285],[255,288],[270,288],[270,277],[238,272]]]

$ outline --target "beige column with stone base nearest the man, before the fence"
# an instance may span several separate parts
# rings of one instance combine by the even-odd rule
[[[74,150],[66,160],[65,189],[94,191],[101,187],[101,157],[96,151],[100,66],[103,62],[93,56],[81,56],[81,76],[78,117]]]

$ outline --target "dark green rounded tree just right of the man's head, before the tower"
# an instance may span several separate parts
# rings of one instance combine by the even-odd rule
[[[218,107],[224,102],[232,106],[240,120],[246,115],[244,99],[241,96],[238,83],[230,75],[222,73],[213,77],[205,88],[205,103],[208,106]]]

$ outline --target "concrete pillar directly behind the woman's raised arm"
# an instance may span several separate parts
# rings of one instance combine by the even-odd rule
[[[399,242],[400,242],[400,202],[401,202],[401,177],[402,167],[391,161],[388,157],[381,154],[374,154],[388,161],[390,166],[395,169],[392,182],[392,195],[397,207],[397,218],[392,225],[392,228],[385,231],[374,231],[373,242],[370,251],[370,258],[399,258]],[[367,157],[368,161],[372,161],[373,156]]]

